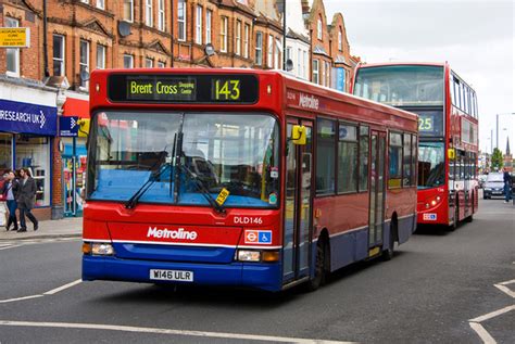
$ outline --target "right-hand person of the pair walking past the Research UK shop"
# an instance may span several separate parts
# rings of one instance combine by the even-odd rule
[[[27,225],[25,216],[27,216],[34,225],[34,230],[38,230],[38,219],[30,211],[34,208],[34,201],[36,199],[36,181],[30,176],[28,168],[20,168],[20,191],[17,192],[16,201],[20,209],[20,229],[18,232],[26,232]]]

